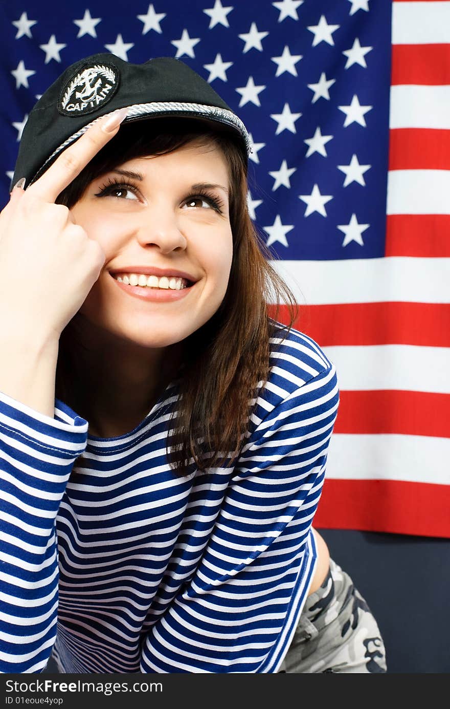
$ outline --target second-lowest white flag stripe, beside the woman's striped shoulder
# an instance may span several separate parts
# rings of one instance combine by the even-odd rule
[[[337,369],[342,391],[450,393],[448,347],[330,345],[322,350]]]

